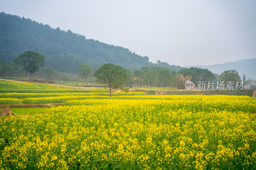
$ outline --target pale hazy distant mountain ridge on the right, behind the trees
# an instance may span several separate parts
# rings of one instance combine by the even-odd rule
[[[208,68],[212,71],[212,73],[221,74],[226,70],[236,70],[241,78],[243,77],[242,74],[246,74],[247,79],[251,78],[256,80],[256,58],[252,59],[244,59],[238,60],[234,62],[227,62],[224,64],[214,64],[214,65],[197,65],[197,66],[185,66],[189,67],[201,67],[201,68]]]

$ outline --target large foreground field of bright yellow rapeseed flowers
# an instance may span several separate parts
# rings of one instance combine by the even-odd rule
[[[2,117],[0,168],[256,169],[255,98],[89,93],[45,115]]]

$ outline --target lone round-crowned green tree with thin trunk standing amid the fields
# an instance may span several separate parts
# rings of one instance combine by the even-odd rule
[[[111,96],[111,88],[122,88],[127,78],[127,73],[121,66],[115,64],[104,64],[93,74],[98,82],[108,85]]]

